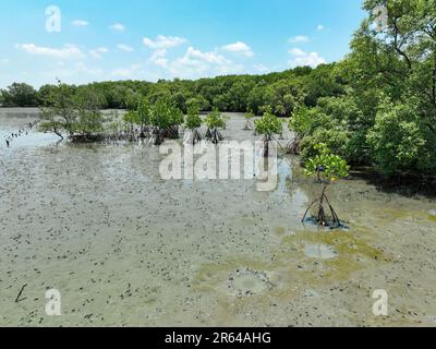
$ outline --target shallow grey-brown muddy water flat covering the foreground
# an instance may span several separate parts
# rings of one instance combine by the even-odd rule
[[[436,325],[436,205],[363,180],[328,195],[348,230],[301,217],[322,188],[296,158],[279,182],[165,181],[147,144],[69,145],[0,109],[0,325]],[[232,116],[225,134],[254,140]],[[26,285],[19,302],[15,298]],[[62,315],[45,313],[47,289]],[[376,317],[372,293],[389,294]]]

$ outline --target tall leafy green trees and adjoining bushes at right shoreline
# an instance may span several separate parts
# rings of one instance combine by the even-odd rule
[[[374,25],[377,5],[387,8],[382,32]],[[306,160],[325,143],[350,164],[374,165],[384,174],[431,173],[436,169],[436,2],[366,0],[364,9],[368,17],[354,35],[351,55],[332,70],[343,93],[319,97],[290,127],[304,134]]]

